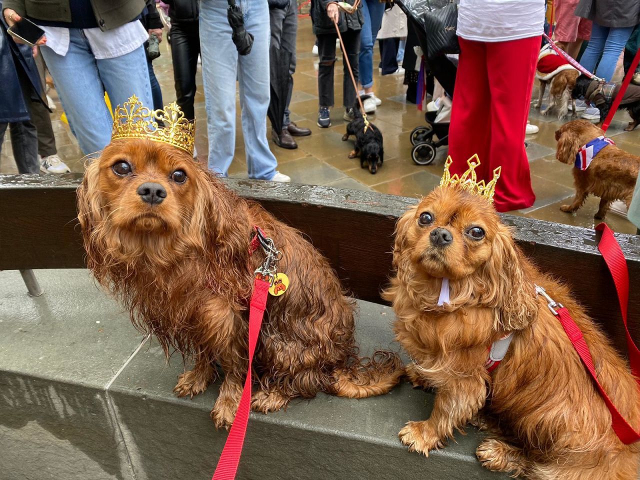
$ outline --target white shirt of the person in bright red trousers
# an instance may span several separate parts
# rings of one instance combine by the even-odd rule
[[[460,0],[456,33],[465,40],[506,42],[540,36],[545,0]]]

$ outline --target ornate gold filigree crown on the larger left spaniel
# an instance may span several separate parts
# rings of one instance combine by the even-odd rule
[[[161,120],[164,126],[158,125]],[[118,105],[113,112],[111,140],[119,138],[144,138],[161,141],[184,150],[193,156],[196,122],[189,122],[176,102],[163,110],[150,110],[142,105],[136,95],[131,95],[124,106]]]

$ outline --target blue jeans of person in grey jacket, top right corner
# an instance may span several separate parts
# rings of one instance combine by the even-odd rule
[[[613,72],[616,70],[618,58],[620,58],[620,54],[625,48],[632,31],[634,31],[634,27],[609,28],[593,22],[591,39],[582,54],[582,58],[580,58],[582,67],[589,70],[589,72],[593,72],[596,77],[604,78],[607,82],[610,82]],[[598,58],[600,58],[601,54],[602,58],[598,63]],[[598,70],[594,72],[596,63],[598,63]]]

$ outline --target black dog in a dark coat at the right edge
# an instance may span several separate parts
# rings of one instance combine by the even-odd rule
[[[583,98],[600,110],[600,124],[604,122],[613,99],[616,98],[620,91],[620,84],[605,83],[600,84],[598,79],[590,79],[586,75],[580,75],[575,81],[571,96],[573,99]],[[629,122],[625,129],[630,132],[640,123],[640,86],[629,84],[625,94],[622,97],[618,110],[627,110],[632,121]]]

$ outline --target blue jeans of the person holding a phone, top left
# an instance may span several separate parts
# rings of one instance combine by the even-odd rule
[[[106,91],[111,106],[124,104],[136,95],[152,108],[151,84],[145,48],[116,58],[97,60],[81,29],[69,29],[69,49],[58,55],[44,45],[42,56],[51,72],[62,108],[85,155],[99,152],[111,141],[113,119],[104,103]]]

